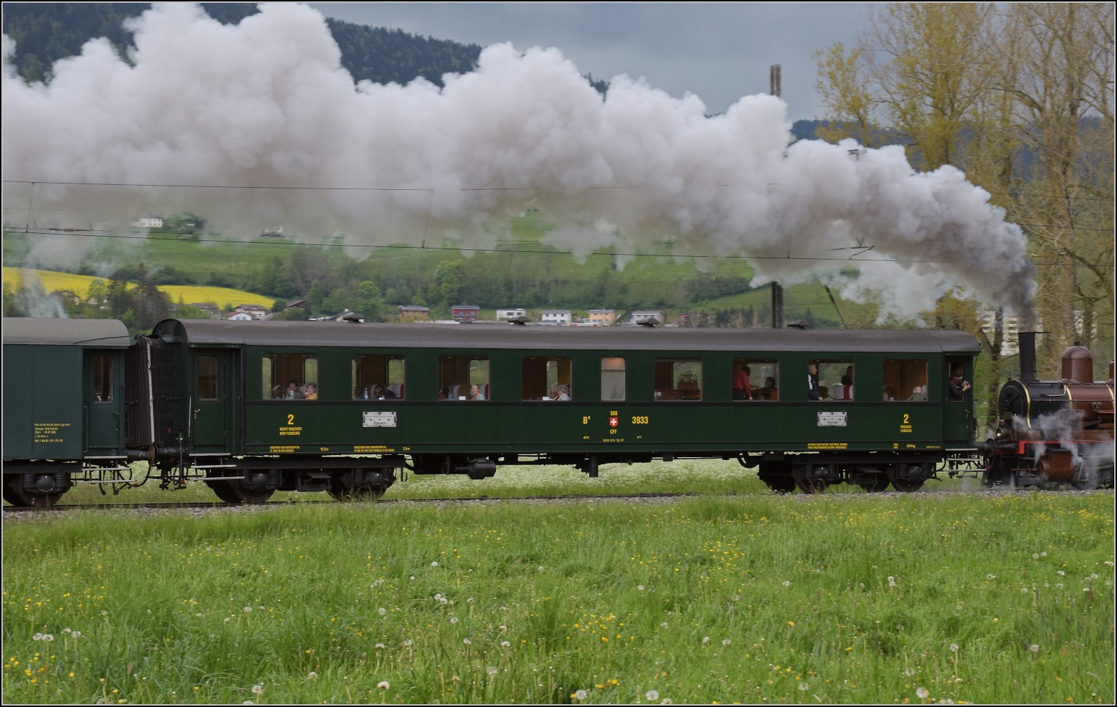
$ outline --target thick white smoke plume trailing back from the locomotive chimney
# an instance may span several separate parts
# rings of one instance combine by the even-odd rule
[[[4,37],[3,178],[398,191],[39,183],[29,212],[30,187],[6,183],[6,223],[120,228],[190,210],[238,237],[283,224],[313,242],[440,246],[452,233],[485,248],[534,206],[558,224],[550,242],[576,255],[672,238],[679,257],[751,257],[755,284],[819,276],[855,299],[878,292],[882,315],[915,314],[953,286],[1031,312],[1024,237],[985,191],[949,166],[914,172],[900,147],[790,144],[779,98],[708,117],[698,97],[627,76],[602,98],[558,50],[506,44],[441,89],[354,85],[321,13],[260,9],[223,26],[156,3],[131,20],[131,63],[94,40],[46,85],[16,75]],[[843,279],[848,251],[834,249],[858,242],[895,261]]]

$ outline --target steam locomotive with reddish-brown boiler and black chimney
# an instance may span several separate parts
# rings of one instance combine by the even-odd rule
[[[1114,362],[1109,380],[1094,380],[1090,351],[1062,354],[1062,379],[1035,378],[1035,333],[1020,334],[1020,380],[997,397],[996,434],[975,447],[985,458],[986,487],[1114,485]]]

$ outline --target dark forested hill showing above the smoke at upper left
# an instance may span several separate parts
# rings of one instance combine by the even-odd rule
[[[124,56],[132,32],[122,23],[150,7],[147,2],[6,2],[3,31],[16,41],[13,61],[20,76],[42,80],[55,61],[79,54],[82,45],[95,37],[107,37]],[[226,25],[259,11],[252,2],[203,2],[202,7]],[[472,70],[481,51],[478,45],[399,29],[335,19],[326,22],[354,80],[407,84],[422,76],[441,86],[442,74]]]

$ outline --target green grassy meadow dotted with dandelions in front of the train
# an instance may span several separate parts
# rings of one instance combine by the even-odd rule
[[[1106,703],[1111,493],[4,518],[16,703]]]

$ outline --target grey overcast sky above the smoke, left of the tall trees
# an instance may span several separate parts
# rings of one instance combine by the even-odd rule
[[[847,46],[862,3],[397,3],[314,2],[327,17],[437,39],[517,49],[557,47],[596,78],[643,76],[671,95],[697,94],[709,112],[767,93],[780,64],[792,121],[819,116],[811,54]]]

